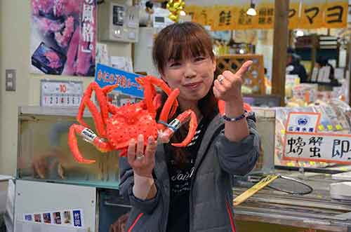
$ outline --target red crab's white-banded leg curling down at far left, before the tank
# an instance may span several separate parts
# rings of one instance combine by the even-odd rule
[[[91,131],[89,128],[86,128],[83,125],[73,124],[69,128],[68,145],[69,145],[69,149],[71,149],[73,153],[73,157],[79,163],[91,164],[91,163],[95,163],[95,161],[88,160],[83,156],[81,156],[81,152],[78,149],[77,138],[75,136],[76,133],[81,137],[83,137],[83,139],[86,140],[86,142],[90,142],[91,144],[93,144],[99,151],[101,152],[112,151],[112,146],[110,146],[109,143],[102,141],[102,139],[97,135],[95,135],[95,133]]]

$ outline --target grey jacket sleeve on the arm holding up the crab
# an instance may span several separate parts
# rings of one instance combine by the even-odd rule
[[[129,200],[132,207],[138,208],[141,212],[145,214],[151,214],[154,208],[157,206],[159,198],[161,197],[157,179],[154,178],[154,183],[156,184],[156,188],[157,188],[156,196],[152,199],[141,200],[139,198],[136,198],[133,194],[133,185],[134,185],[133,169],[131,168],[131,165],[129,165],[126,157],[119,158],[119,170],[120,170],[119,193],[122,196],[124,196],[126,200]]]

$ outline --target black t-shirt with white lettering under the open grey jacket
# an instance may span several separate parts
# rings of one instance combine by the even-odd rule
[[[194,172],[194,164],[202,137],[207,128],[208,121],[201,120],[197,125],[197,132],[192,142],[185,147],[187,159],[181,165],[175,165],[172,157],[168,161],[168,175],[171,184],[171,200],[169,204],[167,232],[189,231],[189,194],[190,184]]]

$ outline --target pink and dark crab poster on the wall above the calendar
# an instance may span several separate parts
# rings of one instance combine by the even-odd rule
[[[94,76],[95,0],[30,0],[31,72]]]

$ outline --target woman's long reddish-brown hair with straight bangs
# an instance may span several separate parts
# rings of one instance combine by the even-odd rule
[[[212,39],[208,35],[204,27],[194,22],[183,22],[169,25],[159,32],[154,40],[152,50],[152,60],[160,74],[164,74],[164,69],[169,60],[184,60],[190,57],[211,57],[211,60],[216,59],[213,53]],[[167,99],[167,95],[162,93],[162,102]],[[211,120],[217,111],[217,100],[213,95],[213,83],[207,95],[198,102],[199,110],[206,120]],[[161,109],[157,112],[157,118]],[[180,109],[177,109],[176,116],[180,114]],[[173,118],[171,118],[173,119]],[[171,138],[171,142],[183,141],[187,134],[187,128],[183,127],[176,132]],[[170,151],[175,158],[177,165],[182,165],[186,159],[184,149],[176,148],[171,144],[166,144],[166,151]]]

